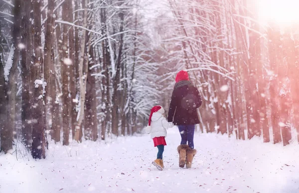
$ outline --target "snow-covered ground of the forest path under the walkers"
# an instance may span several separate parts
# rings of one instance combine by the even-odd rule
[[[149,135],[115,142],[49,144],[47,158],[16,161],[0,155],[0,193],[298,193],[299,145],[237,141],[196,133],[192,169],[178,167],[177,128],[168,129],[165,169],[151,165],[157,150]]]

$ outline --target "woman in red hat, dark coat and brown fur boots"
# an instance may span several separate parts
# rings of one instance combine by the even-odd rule
[[[196,154],[193,143],[195,124],[199,124],[196,109],[200,107],[202,100],[196,87],[189,81],[186,71],[178,72],[175,82],[167,120],[177,125],[181,135],[181,145],[177,147],[179,167],[183,168],[186,163],[186,168],[191,168]]]

